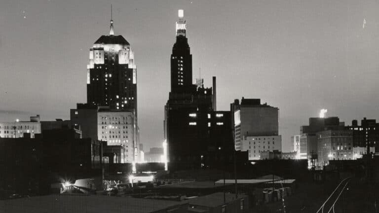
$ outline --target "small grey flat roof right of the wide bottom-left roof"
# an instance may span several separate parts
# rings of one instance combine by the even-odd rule
[[[240,195],[238,194],[238,197],[235,197],[235,194],[232,193],[225,193],[225,200],[226,203],[232,202],[236,199],[245,198],[247,195]],[[192,198],[187,200],[189,205],[195,205],[195,206],[204,206],[204,207],[218,207],[224,205],[224,193],[223,192],[217,192],[210,195],[205,195],[197,198]]]

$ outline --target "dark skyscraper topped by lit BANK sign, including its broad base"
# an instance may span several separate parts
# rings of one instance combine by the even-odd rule
[[[171,92],[165,106],[164,144],[168,169],[217,168],[220,155],[233,148],[230,112],[215,111],[215,87],[192,83],[192,55],[184,11],[179,10],[171,54]],[[216,86],[216,78],[214,78]],[[223,150],[222,152],[219,150]]]

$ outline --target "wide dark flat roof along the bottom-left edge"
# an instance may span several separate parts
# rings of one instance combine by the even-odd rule
[[[6,213],[150,213],[183,205],[183,202],[105,195],[47,195],[0,201]]]

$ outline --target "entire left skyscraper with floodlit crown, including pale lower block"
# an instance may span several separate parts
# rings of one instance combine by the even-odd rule
[[[109,35],[98,38],[89,49],[87,104],[71,110],[71,122],[84,138],[120,146],[119,163],[138,162],[137,69],[134,52],[121,35],[114,35],[111,9]]]

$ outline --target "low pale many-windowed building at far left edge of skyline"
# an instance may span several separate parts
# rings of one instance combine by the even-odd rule
[[[22,138],[24,133],[30,133],[31,138],[41,133],[39,115],[31,116],[30,121],[0,122],[0,138]]]

